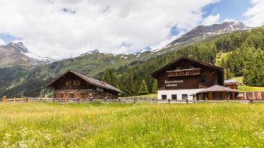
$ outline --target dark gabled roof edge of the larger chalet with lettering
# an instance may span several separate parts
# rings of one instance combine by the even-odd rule
[[[176,60],[172,61],[171,63],[168,63],[166,66],[163,66],[162,68],[156,70],[155,72],[153,73],[150,73],[150,75],[155,75],[157,73],[159,73],[160,71],[164,70],[165,68],[168,68],[169,66],[171,66],[173,63],[176,63],[177,61],[180,61],[181,59],[186,59],[188,61],[193,61],[193,62],[196,62],[196,63],[200,63],[201,65],[204,65],[204,66],[208,66],[208,67],[211,67],[211,68],[215,68],[215,69],[218,69],[218,70],[224,70],[224,68],[220,68],[218,66],[215,66],[211,63],[206,63],[206,62],[203,62],[203,61],[198,61],[196,59],[193,59],[193,58],[189,58],[187,56],[181,56],[179,58],[177,58]]]

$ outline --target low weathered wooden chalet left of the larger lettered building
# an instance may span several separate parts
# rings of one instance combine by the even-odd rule
[[[47,86],[54,88],[54,98],[117,99],[119,93],[124,93],[75,70],[66,71]]]

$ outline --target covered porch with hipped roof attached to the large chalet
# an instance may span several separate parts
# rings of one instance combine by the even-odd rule
[[[213,85],[191,95],[193,96],[193,100],[235,100],[239,92],[228,87]]]

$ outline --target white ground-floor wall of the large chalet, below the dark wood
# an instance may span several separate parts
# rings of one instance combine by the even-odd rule
[[[162,95],[167,95],[167,99],[172,99],[172,94],[177,94],[177,100],[182,100],[181,94],[188,94],[188,100],[193,100],[191,94],[196,94],[204,89],[187,89],[187,90],[158,90],[157,99],[162,99]]]

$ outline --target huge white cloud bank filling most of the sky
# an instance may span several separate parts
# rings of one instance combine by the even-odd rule
[[[0,33],[22,38],[28,49],[52,58],[93,49],[135,53],[169,42],[172,27],[182,31],[217,22],[219,14],[202,17],[203,7],[217,1],[0,1]]]

